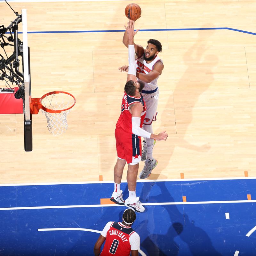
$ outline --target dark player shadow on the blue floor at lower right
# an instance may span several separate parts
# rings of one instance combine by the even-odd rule
[[[161,194],[156,196],[148,196],[150,188],[158,186],[161,190]],[[165,182],[145,182],[141,192],[141,199],[149,202],[163,202],[163,198],[168,198],[169,202],[175,202],[170,192],[165,186]],[[141,247],[143,251],[147,252],[148,256],[164,256],[164,255],[194,255],[194,256],[221,256],[219,252],[215,250],[212,245],[210,237],[202,229],[195,225],[193,220],[189,220],[188,214],[181,213],[177,205],[163,205],[165,211],[167,211],[170,220],[164,220],[166,225],[170,225],[165,234],[149,234],[143,241],[141,241]],[[161,219],[161,216],[157,218]],[[149,230],[159,223],[150,223],[148,220],[142,221],[139,227],[136,229],[138,232],[140,228]],[[155,228],[153,228],[154,232]],[[158,229],[159,230],[159,229]],[[179,237],[188,246],[188,250],[191,254],[184,254],[184,250],[180,251],[180,245],[175,237]],[[183,253],[183,254],[182,254]]]

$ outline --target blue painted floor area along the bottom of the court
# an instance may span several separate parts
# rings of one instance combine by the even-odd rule
[[[100,205],[112,191],[103,182],[1,186],[0,255],[93,255],[125,209]],[[146,181],[136,192],[146,208],[133,225],[141,255],[256,255],[255,179]]]

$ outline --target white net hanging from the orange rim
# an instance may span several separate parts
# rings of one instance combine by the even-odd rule
[[[52,109],[61,110],[70,108],[74,105],[75,99],[66,93],[54,93],[46,96],[41,100],[42,106]],[[66,132],[68,128],[67,115],[72,108],[61,111],[60,113],[50,113],[42,109],[42,112],[47,119],[47,127],[50,133],[53,135],[60,135],[62,132]]]

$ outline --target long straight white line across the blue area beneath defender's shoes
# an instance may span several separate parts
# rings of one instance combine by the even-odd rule
[[[232,204],[235,204],[235,203],[256,203],[256,200],[143,203],[143,205],[231,204],[231,203]],[[35,209],[60,209],[60,208],[89,208],[89,207],[120,207],[120,206],[123,207],[124,205],[118,205],[118,204],[84,204],[84,205],[24,206],[24,207],[0,208],[0,211],[35,210]]]

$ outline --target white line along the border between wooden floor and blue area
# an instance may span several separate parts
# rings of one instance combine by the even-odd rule
[[[162,182],[162,181],[207,181],[207,180],[253,180],[256,177],[230,177],[230,178],[200,178],[200,179],[167,179],[167,180],[137,180],[137,182]],[[122,180],[122,183],[127,181]],[[114,180],[108,181],[81,181],[81,182],[42,182],[42,183],[14,183],[0,184],[0,187],[16,187],[16,186],[41,186],[41,185],[72,185],[72,184],[100,184],[114,183]]]

